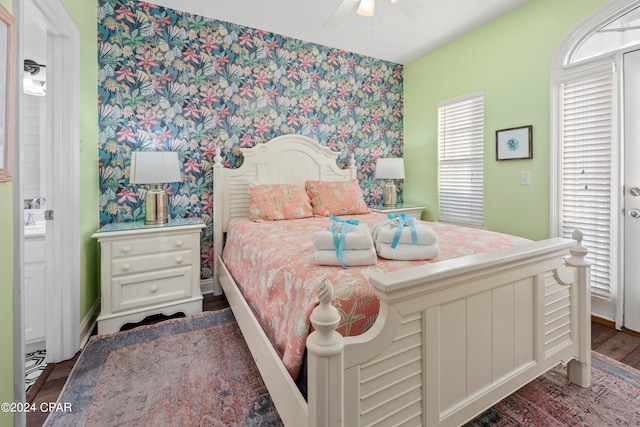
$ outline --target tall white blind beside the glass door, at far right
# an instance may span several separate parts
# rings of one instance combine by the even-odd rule
[[[610,299],[614,142],[613,70],[562,85],[561,232],[584,233],[591,292]]]

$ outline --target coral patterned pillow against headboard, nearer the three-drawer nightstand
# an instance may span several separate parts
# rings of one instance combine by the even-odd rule
[[[309,196],[299,185],[261,184],[249,186],[252,221],[278,221],[313,216]]]

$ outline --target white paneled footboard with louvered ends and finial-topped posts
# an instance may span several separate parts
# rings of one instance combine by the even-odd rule
[[[323,290],[308,425],[460,425],[560,362],[589,386],[584,254],[550,239],[373,277],[378,320],[344,339]]]

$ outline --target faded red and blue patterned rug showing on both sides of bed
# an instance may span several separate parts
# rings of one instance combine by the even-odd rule
[[[556,367],[467,424],[640,426],[640,372],[593,353],[584,389]],[[45,426],[281,426],[230,309],[94,337]]]

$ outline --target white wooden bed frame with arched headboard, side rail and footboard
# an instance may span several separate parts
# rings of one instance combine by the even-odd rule
[[[244,150],[238,169],[214,162],[215,276],[287,426],[461,425],[558,363],[591,383],[589,265],[554,238],[371,277],[374,326],[343,338],[331,277],[307,340],[305,400],[222,261],[229,221],[249,215],[249,181],[304,184],[356,177],[338,154],[299,135]],[[567,255],[570,255],[567,258]]]

